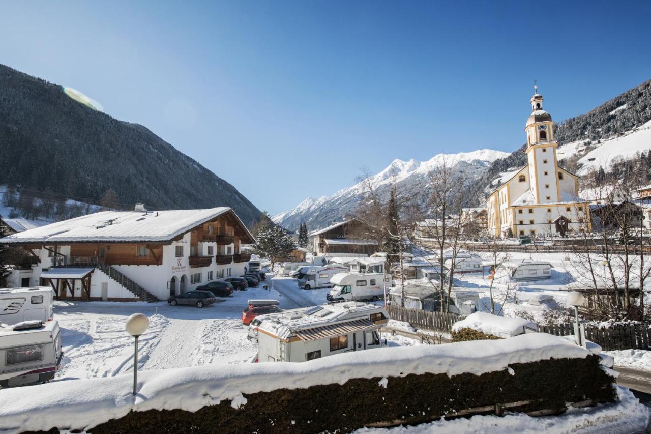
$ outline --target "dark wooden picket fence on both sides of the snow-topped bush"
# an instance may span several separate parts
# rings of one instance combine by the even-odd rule
[[[422,330],[450,332],[456,321],[464,319],[455,313],[429,312],[419,309],[400,308],[387,305],[391,319],[405,321]],[[538,325],[538,332],[555,336],[574,335],[573,323],[561,323],[549,326]],[[647,325],[618,325],[609,328],[586,327],[585,338],[602,347],[604,351],[620,349],[651,349],[651,328]]]

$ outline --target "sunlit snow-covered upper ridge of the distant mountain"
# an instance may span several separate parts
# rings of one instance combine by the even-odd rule
[[[430,160],[421,162],[393,160],[383,171],[372,175],[365,181],[339,190],[331,196],[318,199],[308,197],[292,210],[281,212],[271,218],[275,223],[292,230],[298,230],[301,222],[307,222],[309,231],[326,227],[332,222],[340,221],[346,214],[353,212],[367,191],[370,184],[380,195],[388,195],[394,179],[403,192],[417,192],[425,182],[428,174],[444,163],[454,170],[464,171],[471,179],[480,178],[491,162],[504,158],[509,152],[480,149],[458,154],[437,154]]]

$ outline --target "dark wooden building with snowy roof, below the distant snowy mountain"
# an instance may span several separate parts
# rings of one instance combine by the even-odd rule
[[[352,218],[309,234],[314,256],[372,255],[380,250],[367,225]],[[343,254],[345,253],[345,254]]]

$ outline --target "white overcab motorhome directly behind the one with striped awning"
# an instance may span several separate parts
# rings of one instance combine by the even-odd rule
[[[382,282],[384,278],[385,282]],[[384,289],[390,287],[389,276],[379,273],[341,273],[330,281],[333,288],[327,293],[328,301],[380,300]]]

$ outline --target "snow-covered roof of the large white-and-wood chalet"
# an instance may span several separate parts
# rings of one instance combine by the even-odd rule
[[[73,242],[161,242],[230,212],[245,234],[255,241],[228,207],[156,212],[101,211],[29,229],[0,239],[7,244],[64,244]]]

